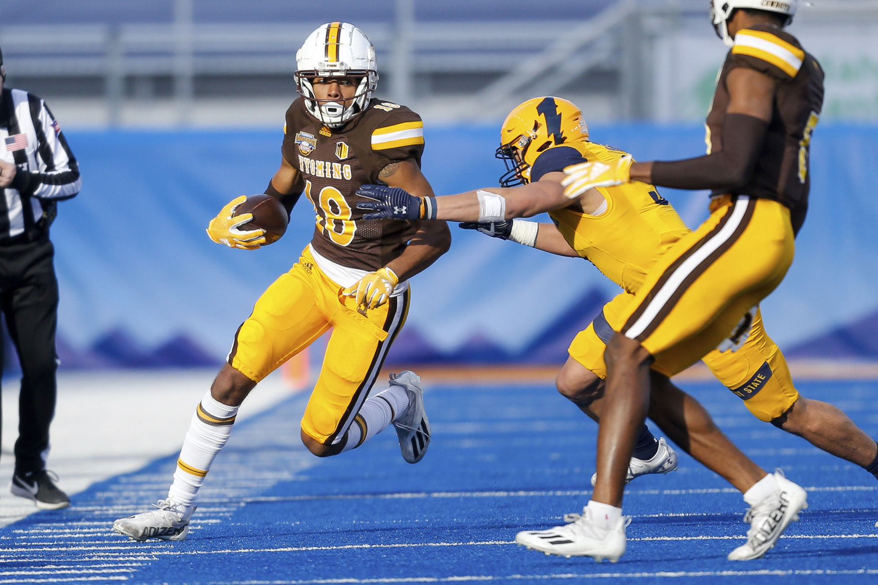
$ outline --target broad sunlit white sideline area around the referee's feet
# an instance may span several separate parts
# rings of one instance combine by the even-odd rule
[[[59,376],[48,459],[48,468],[61,477],[58,485],[69,495],[78,494],[97,481],[178,451],[192,412],[215,373],[144,370]],[[290,394],[276,372],[248,396],[237,420],[244,422]],[[18,379],[3,380],[2,400],[0,527],[38,511],[29,500],[9,493],[12,448],[18,438]]]

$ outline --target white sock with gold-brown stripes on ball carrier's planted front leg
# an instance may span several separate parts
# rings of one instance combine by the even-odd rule
[[[214,400],[210,390],[207,391],[189,423],[180,458],[176,461],[174,483],[168,490],[169,500],[184,506],[195,503],[213,459],[232,434],[237,414],[238,407]]]

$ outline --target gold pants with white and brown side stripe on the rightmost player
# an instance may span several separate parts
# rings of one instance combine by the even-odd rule
[[[781,284],[794,249],[786,206],[729,198],[659,258],[608,322],[640,342],[664,372],[681,372],[728,338]]]

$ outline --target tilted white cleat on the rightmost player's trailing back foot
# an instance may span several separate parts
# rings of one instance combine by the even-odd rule
[[[781,538],[788,524],[799,519],[799,512],[808,508],[804,489],[785,478],[780,469],[774,472],[774,479],[778,486],[774,494],[747,510],[747,542],[729,553],[729,560],[759,559]]]

